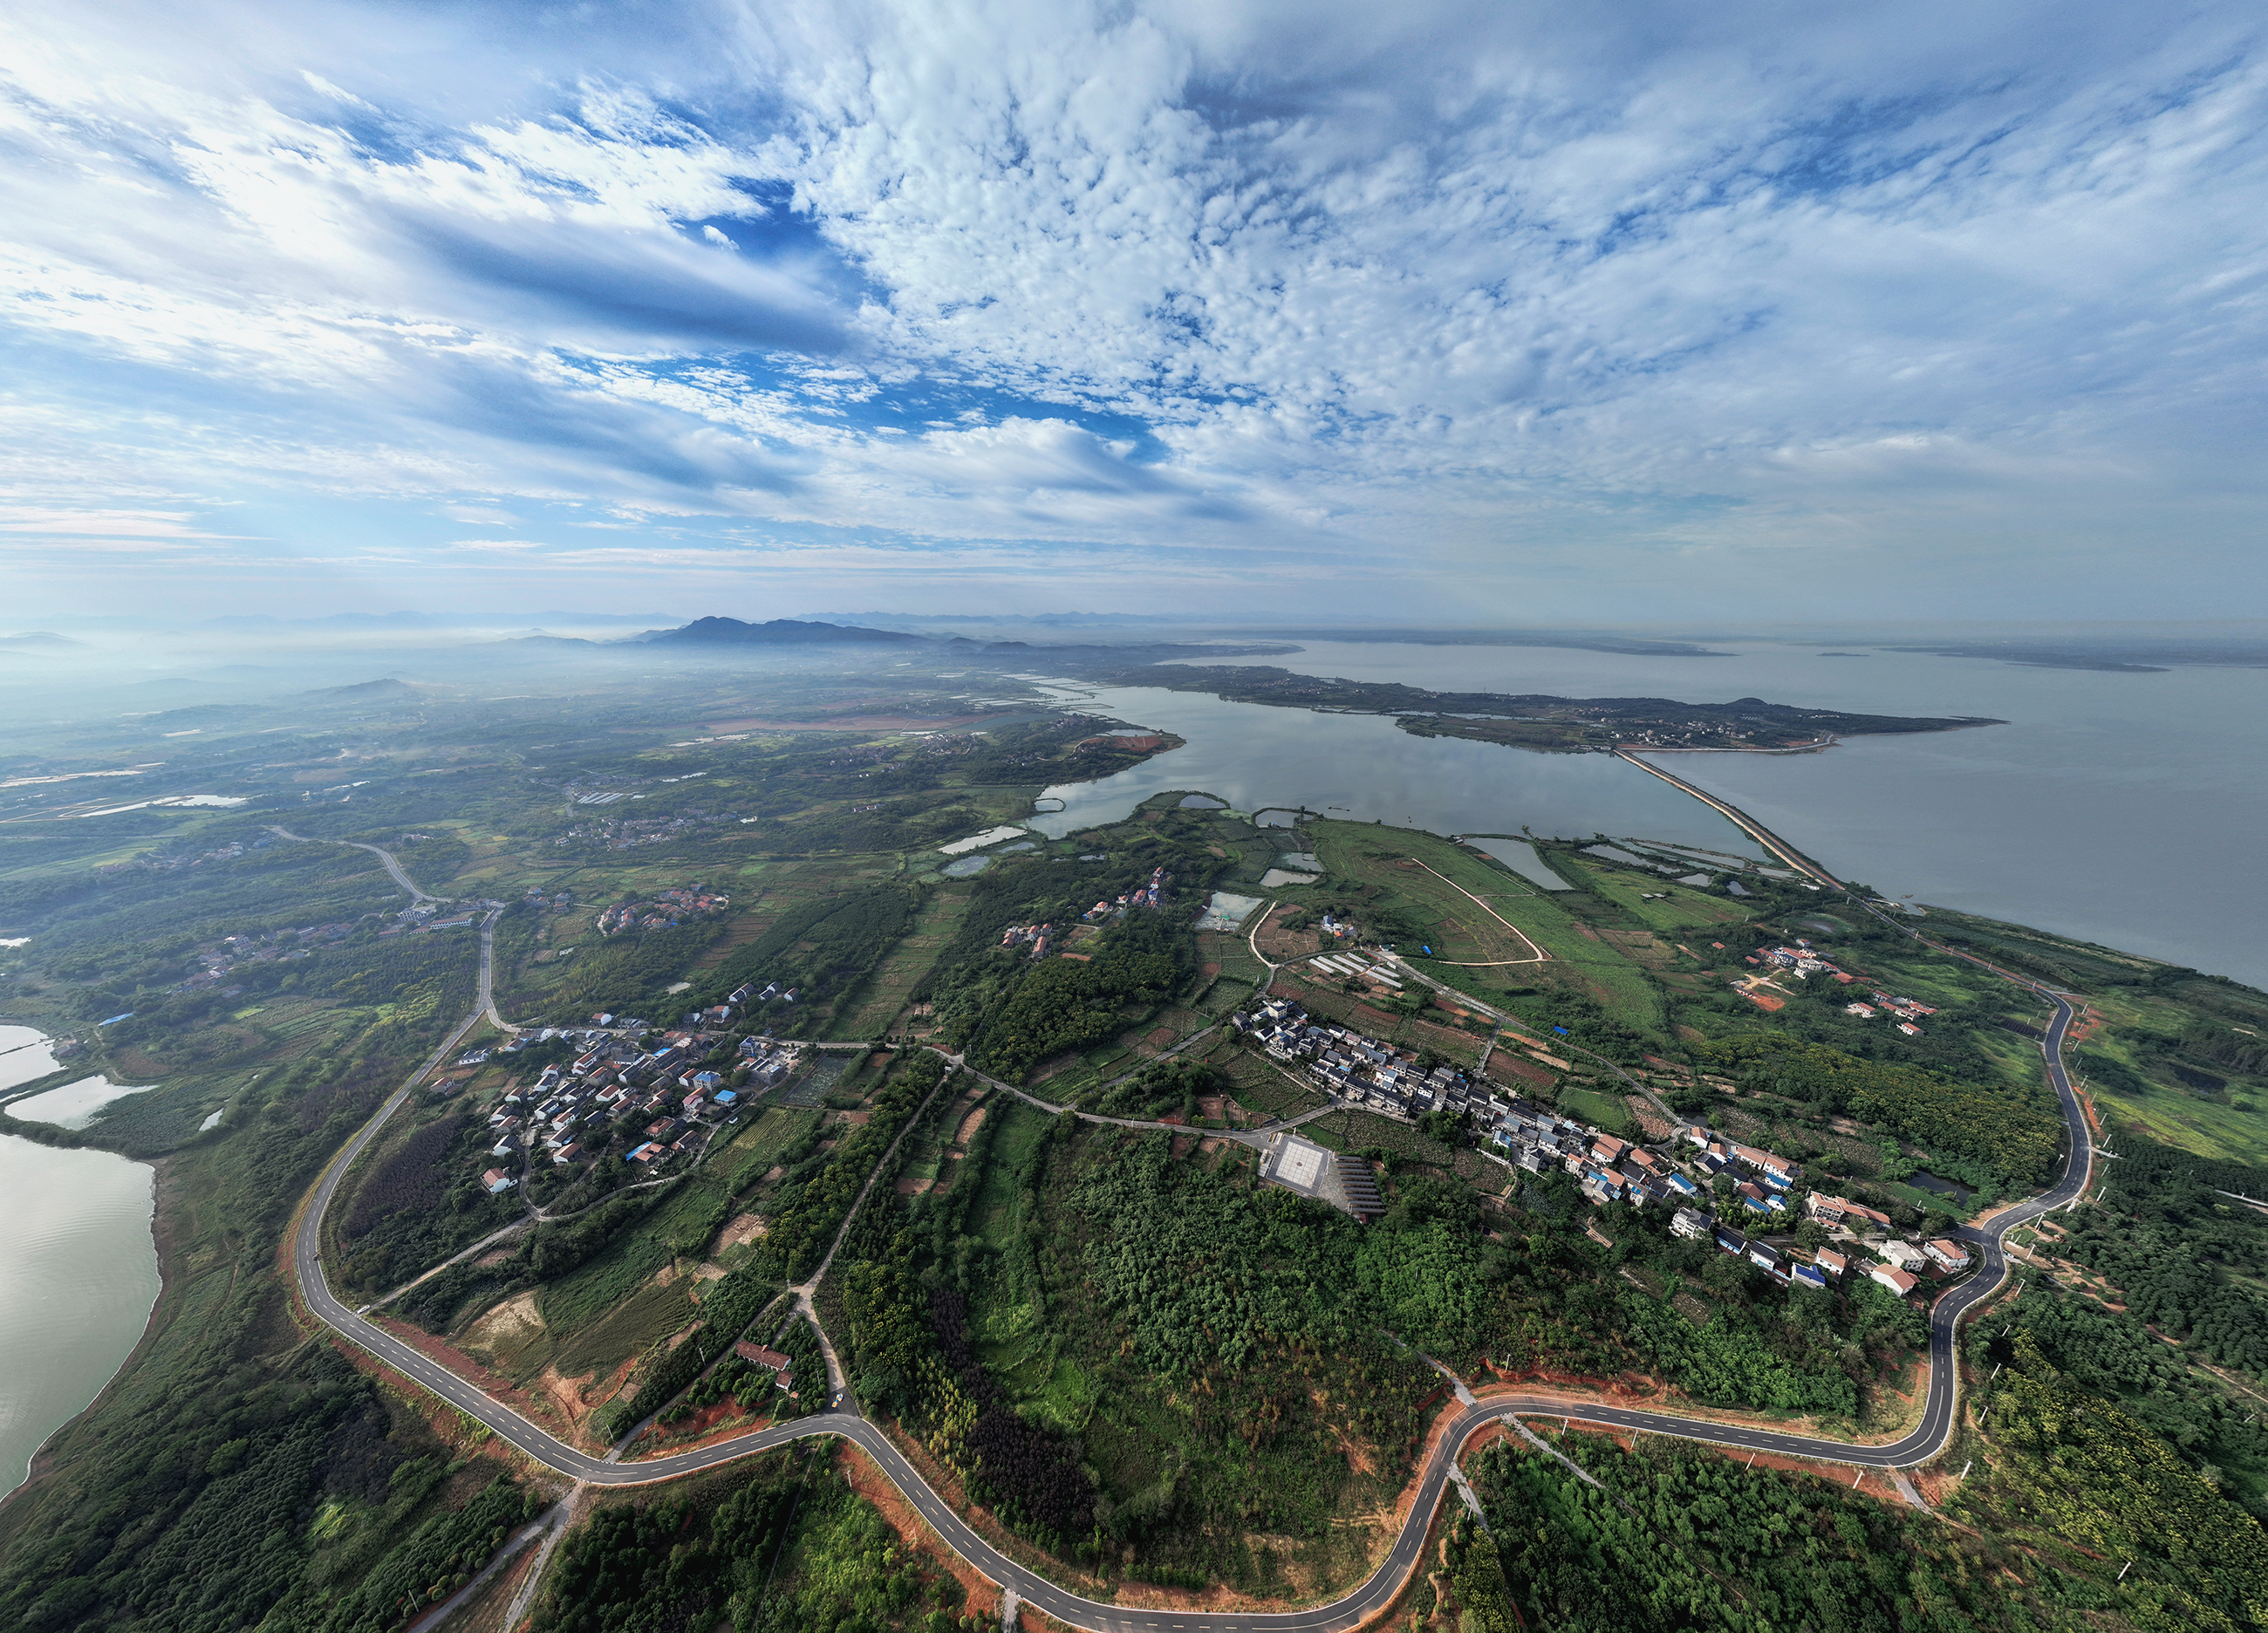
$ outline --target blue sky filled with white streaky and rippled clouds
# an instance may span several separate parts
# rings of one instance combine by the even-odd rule
[[[0,619],[2261,617],[2268,20],[0,18]]]

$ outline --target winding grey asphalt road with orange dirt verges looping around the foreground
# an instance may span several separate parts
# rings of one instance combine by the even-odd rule
[[[379,1129],[401,1107],[401,1102],[408,1100],[417,1082],[440,1064],[442,1055],[447,1055],[449,1048],[454,1048],[456,1041],[483,1018],[490,998],[490,937],[485,932],[494,925],[497,912],[501,909],[492,909],[488,923],[483,925],[479,1007],[465,1016],[456,1032],[451,1032],[451,1037],[433,1050],[426,1064],[420,1066],[331,1159],[293,1222],[293,1272],[299,1284],[299,1297],[306,1302],[308,1311],[313,1311],[327,1327],[358,1349],[365,1349],[395,1372],[401,1372],[440,1399],[449,1402],[467,1418],[485,1424],[497,1433],[497,1438],[506,1440],[531,1461],[592,1486],[646,1486],[653,1481],[678,1479],[696,1470],[717,1467],[719,1463],[730,1463],[758,1452],[769,1452],[805,1436],[841,1436],[844,1440],[855,1442],[882,1467],[889,1481],[905,1492],[907,1501],[912,1501],[937,1535],[943,1538],[943,1542],[968,1565],[980,1569],[993,1583],[1012,1590],[1025,1604],[1032,1604],[1070,1626],[1091,1628],[1093,1633],[1345,1633],[1347,1628],[1359,1626],[1363,1619],[1388,1606],[1395,1594],[1402,1592],[1408,1574],[1417,1567],[1427,1533],[1433,1524],[1433,1513],[1449,1483],[1458,1449],[1476,1429],[1506,1418],[1572,1418],[1574,1422],[1635,1429],[1642,1433],[1701,1440],[1721,1447],[1774,1452],[1780,1456],[1817,1458],[1851,1467],[1892,1470],[1926,1463],[1953,1433],[1960,1388],[1960,1368],[1955,1365],[1955,1336],[1960,1318],[1980,1300],[1991,1297],[2007,1279],[2007,1257],[2000,1245],[2003,1236],[2016,1225],[2073,1202],[2087,1188],[2091,1173],[2093,1148],[2089,1141],[2087,1116],[2080,1109],[2077,1093],[2073,1093],[2062,1061],[2064,1034],[2073,1018],[2071,1002],[2062,993],[2050,993],[2034,982],[1996,971],[2055,1005],[2055,1018],[2048,1023],[2041,1055],[2046,1059],[2048,1080],[2055,1084],[2055,1093],[2062,1102],[2064,1127],[2068,1134],[2068,1157],[2064,1161],[2062,1182],[2057,1182],[2050,1191],[2007,1209],[1984,1229],[1962,1232],[1966,1241],[1978,1245],[1980,1266],[1966,1284],[1939,1297],[1930,1311],[1930,1386],[1923,1399],[1921,1422],[1912,1429],[1912,1433],[1887,1445],[1855,1445],[1814,1436],[1776,1433],[1771,1429],[1751,1429],[1742,1424],[1674,1418],[1669,1413],[1628,1411],[1601,1404],[1569,1404],[1567,1399],[1549,1395],[1490,1395],[1488,1399],[1463,1404],[1463,1408],[1445,1424],[1445,1431],[1436,1436],[1433,1452],[1420,1474],[1417,1495],[1411,1504],[1402,1533],[1395,1538],[1386,1560],[1345,1599],[1284,1613],[1141,1610],[1082,1599],[1080,1594],[1057,1588],[1048,1579],[1000,1554],[991,1542],[978,1535],[975,1529],[971,1529],[968,1522],[962,1520],[959,1513],[955,1513],[946,1499],[928,1486],[928,1481],[923,1481],[923,1477],[912,1463],[907,1463],[905,1454],[898,1452],[896,1442],[878,1424],[857,1415],[857,1404],[848,1397],[848,1393],[839,1395],[844,1406],[835,1411],[798,1418],[796,1422],[778,1424],[773,1429],[760,1429],[737,1440],[646,1463],[610,1463],[603,1456],[572,1447],[535,1427],[510,1406],[492,1399],[485,1390],[426,1359],[420,1349],[401,1338],[395,1338],[383,1327],[372,1325],[331,1293],[322,1272],[322,1257],[318,1252],[322,1218],[354,1159],[370,1145],[372,1139],[376,1139]]]

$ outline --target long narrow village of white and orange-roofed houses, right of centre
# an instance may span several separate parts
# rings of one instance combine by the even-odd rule
[[[1381,980],[1370,968],[1363,975]],[[1288,998],[1268,998],[1234,1016],[1234,1025],[1277,1061],[1302,1064],[1306,1080],[1336,1105],[1404,1123],[1456,1114],[1483,1132],[1481,1152],[1492,1161],[1531,1175],[1558,1168],[1592,1207],[1669,1209],[1674,1236],[1708,1238],[1783,1286],[1826,1288],[1855,1270],[1907,1297],[1923,1277],[1955,1277],[1973,1263],[1950,1236],[1907,1243],[1887,1213],[1805,1191],[1801,1164],[1721,1139],[1708,1123],[1667,1125],[1662,1139],[1649,1141],[1606,1134],[1454,1066],[1420,1071],[1415,1052],[1347,1025],[1315,1023]],[[1842,1245],[1799,1247],[1794,1232],[1803,1218]]]

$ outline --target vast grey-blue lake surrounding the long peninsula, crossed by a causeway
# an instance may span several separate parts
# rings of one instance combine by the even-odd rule
[[[2005,719],[2007,726],[1975,730],[1855,737],[1817,755],[1665,753],[1658,762],[1740,805],[1835,873],[1889,896],[2268,987],[2268,937],[2259,934],[2268,923],[2268,869],[2254,862],[2259,835],[2268,832],[2268,671],[2109,674],[1885,651],[1821,658],[1817,646],[1785,642],[1719,642],[1728,658],[1386,642],[1302,646],[1286,658],[1222,662],[1433,689],[1687,703],[1760,696],[1882,714]],[[1422,739],[1386,719],[1356,724],[1198,701],[1250,712],[1222,714],[1191,708],[1184,694],[1150,689],[1107,689],[1095,703],[1191,737],[1188,748],[1123,773],[1145,782],[1145,792],[1211,789],[1238,810],[1252,810],[1247,801],[1347,805],[1356,816],[1433,832],[1529,826],[1753,855],[1744,844],[1726,844],[1728,823],[1674,819],[1626,789],[1624,782],[1651,782],[1694,807],[1610,755],[1456,744],[1517,764],[1481,769],[1463,758],[1408,753],[1402,744]],[[1306,758],[1315,764],[1304,767]],[[1118,782],[1089,785],[1084,801],[1093,814],[1073,826],[1100,821],[1116,801],[1105,789]],[[1506,819],[1508,812],[1517,816]]]

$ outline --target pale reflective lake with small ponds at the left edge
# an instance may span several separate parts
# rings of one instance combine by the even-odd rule
[[[50,1071],[43,1032],[0,1025],[0,1089]],[[150,1164],[113,1152],[0,1134],[0,1241],[9,1247],[0,1254],[0,1495],[23,1486],[32,1454],[116,1377],[150,1322],[154,1179]]]

